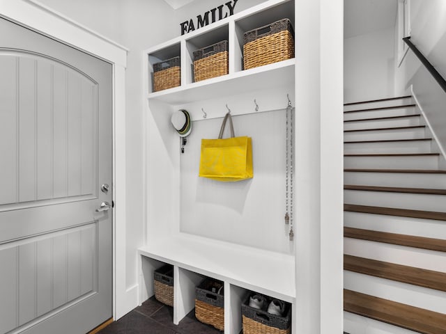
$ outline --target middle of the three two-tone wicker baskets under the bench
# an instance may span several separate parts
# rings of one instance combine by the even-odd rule
[[[224,331],[223,282],[206,278],[195,287],[195,317],[204,324]]]

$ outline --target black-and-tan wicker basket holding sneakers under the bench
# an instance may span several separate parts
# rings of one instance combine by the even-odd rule
[[[266,310],[258,310],[249,306],[249,294],[242,304],[243,334],[289,334],[291,328],[291,305],[285,303],[284,317],[272,315]],[[266,297],[268,305],[271,301]]]

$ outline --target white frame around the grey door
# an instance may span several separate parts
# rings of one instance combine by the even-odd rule
[[[137,305],[137,294],[125,282],[125,67],[128,49],[77,24],[35,0],[0,0],[0,16],[43,33],[113,65],[113,317]]]

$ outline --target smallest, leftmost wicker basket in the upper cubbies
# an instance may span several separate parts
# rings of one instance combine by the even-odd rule
[[[178,87],[181,84],[180,57],[153,64],[153,91]]]

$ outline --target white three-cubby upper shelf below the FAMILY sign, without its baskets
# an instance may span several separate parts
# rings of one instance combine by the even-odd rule
[[[294,0],[269,0],[146,50],[148,100],[178,105],[282,86],[293,89],[295,58],[243,69],[244,33],[284,18],[293,24]],[[194,82],[194,51],[221,40],[228,40],[228,74]],[[151,93],[153,64],[173,57],[180,57],[180,86]]]

